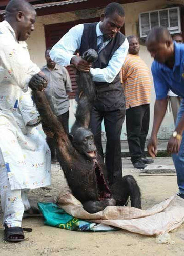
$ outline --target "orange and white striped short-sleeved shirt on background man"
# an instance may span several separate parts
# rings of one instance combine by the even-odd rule
[[[122,66],[122,83],[126,96],[126,109],[150,103],[150,70],[140,56],[127,55]]]

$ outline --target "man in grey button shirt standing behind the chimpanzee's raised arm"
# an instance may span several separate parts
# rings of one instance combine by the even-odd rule
[[[57,65],[51,60],[49,56],[50,50],[51,48],[47,49],[45,52],[47,65],[42,68],[42,71],[48,79],[48,85],[44,92],[50,102],[52,111],[68,132],[70,101],[67,93],[72,91],[71,80],[66,68]],[[47,136],[47,143],[51,150],[52,161],[56,161],[54,139]]]

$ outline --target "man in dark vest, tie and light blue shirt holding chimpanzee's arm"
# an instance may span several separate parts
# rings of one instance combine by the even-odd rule
[[[51,59],[60,64],[73,64],[78,70],[91,72],[96,86],[96,100],[91,112],[90,127],[98,152],[103,156],[101,122],[107,136],[106,167],[109,183],[122,177],[120,135],[125,119],[125,96],[119,71],[128,52],[128,41],[120,33],[125,13],[118,3],[107,5],[99,23],[79,24],[69,30],[52,48]],[[89,64],[79,55],[89,48],[98,52],[98,60]]]

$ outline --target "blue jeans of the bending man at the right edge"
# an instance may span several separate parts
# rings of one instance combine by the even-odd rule
[[[181,100],[181,105],[177,114],[176,127],[184,114],[184,99]],[[173,162],[177,173],[177,183],[179,187],[179,192],[184,194],[184,132],[182,134],[182,141],[180,145],[180,150],[178,154],[172,154]]]

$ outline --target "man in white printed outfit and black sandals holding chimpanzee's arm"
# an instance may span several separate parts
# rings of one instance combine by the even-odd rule
[[[26,0],[11,0],[0,23],[0,191],[5,240],[24,240],[23,213],[30,209],[25,189],[51,183],[51,154],[36,128],[39,113],[29,83],[45,78],[31,62],[24,42],[34,30],[36,12]]]

